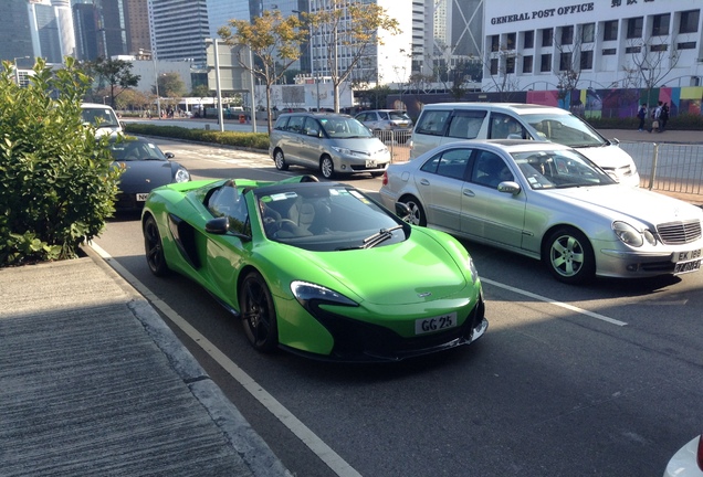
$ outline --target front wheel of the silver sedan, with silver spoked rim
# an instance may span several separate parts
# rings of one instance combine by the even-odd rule
[[[573,227],[554,231],[545,242],[543,259],[559,282],[577,285],[596,275],[594,247],[581,232]]]

